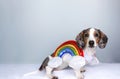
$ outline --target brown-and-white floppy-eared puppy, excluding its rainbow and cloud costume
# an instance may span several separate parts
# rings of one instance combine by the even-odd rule
[[[85,65],[86,64],[98,64],[99,60],[96,57],[96,47],[103,49],[106,47],[108,37],[99,29],[96,28],[88,28],[80,32],[76,36],[76,44],[79,48],[81,48],[84,52],[84,58],[85,58]],[[53,53],[54,54],[54,53]],[[48,63],[53,58],[53,54],[48,56],[40,66],[39,70],[42,71],[43,69],[46,69],[46,74],[50,79],[58,79],[57,76],[54,76],[52,72],[54,70],[61,70],[69,66],[69,62],[67,64],[62,63],[60,67],[58,68],[51,68],[48,66]],[[66,58],[69,58],[69,55],[65,56]],[[64,57],[62,57],[63,61],[65,60]],[[70,60],[70,59],[69,59]],[[59,61],[57,61],[59,62]],[[73,68],[74,69],[74,68]],[[83,79],[84,75],[82,75],[82,72],[85,70],[83,67],[79,69],[74,69],[77,79]]]

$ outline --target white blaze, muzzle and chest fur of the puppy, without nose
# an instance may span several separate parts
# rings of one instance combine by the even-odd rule
[[[96,39],[94,37],[94,32],[96,30],[94,28],[91,28],[89,30],[89,38],[87,39],[87,45],[86,48],[83,50],[84,51],[84,57],[86,59],[87,64],[98,64],[99,61],[96,58],[96,46],[97,46],[97,42]],[[94,41],[94,48],[89,48],[89,41]]]

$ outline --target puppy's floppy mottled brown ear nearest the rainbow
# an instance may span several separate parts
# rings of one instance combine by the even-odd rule
[[[81,32],[81,33],[79,33],[78,35],[77,35],[77,37],[76,37],[76,42],[77,42],[77,44],[78,44],[78,46],[80,47],[80,48],[84,48],[85,47],[85,42],[84,42],[84,36],[83,36],[83,31]]]

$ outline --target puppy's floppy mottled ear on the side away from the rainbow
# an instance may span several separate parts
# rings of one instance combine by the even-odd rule
[[[100,41],[98,43],[99,48],[103,49],[105,48],[107,42],[108,42],[108,37],[101,31],[98,30],[100,33]]]

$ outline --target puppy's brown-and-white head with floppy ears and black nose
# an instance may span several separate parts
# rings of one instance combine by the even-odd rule
[[[99,29],[88,28],[80,32],[76,37],[78,46],[82,49],[89,47],[94,48],[99,46],[105,48],[108,37]]]

